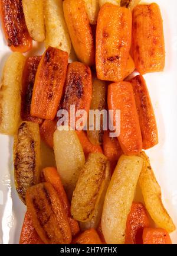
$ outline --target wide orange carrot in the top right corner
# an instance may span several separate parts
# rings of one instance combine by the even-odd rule
[[[137,5],[133,9],[132,52],[141,75],[163,71],[165,43],[163,23],[157,4]]]

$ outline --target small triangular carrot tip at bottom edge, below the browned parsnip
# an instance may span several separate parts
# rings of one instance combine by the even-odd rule
[[[72,244],[102,244],[96,230],[91,228],[81,233],[72,241]]]

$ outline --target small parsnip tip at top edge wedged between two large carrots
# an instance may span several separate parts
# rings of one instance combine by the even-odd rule
[[[89,17],[90,24],[97,23],[97,16],[99,14],[99,0],[84,0],[86,12]]]

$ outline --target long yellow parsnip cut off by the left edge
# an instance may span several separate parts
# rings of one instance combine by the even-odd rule
[[[25,57],[12,53],[5,62],[0,88],[0,133],[14,135],[21,110],[22,70]]]

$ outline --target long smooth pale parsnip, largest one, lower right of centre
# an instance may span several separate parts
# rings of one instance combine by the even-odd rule
[[[142,158],[122,155],[104,199],[101,227],[107,244],[124,244],[127,216],[132,206]]]

